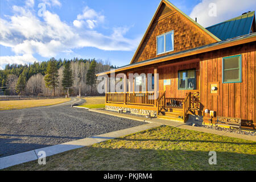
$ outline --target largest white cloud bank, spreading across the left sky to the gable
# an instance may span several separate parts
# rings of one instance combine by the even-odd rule
[[[32,1],[29,1],[32,2]],[[42,57],[55,57],[59,53],[72,53],[72,49],[95,47],[107,51],[131,51],[140,38],[124,37],[129,28],[113,28],[112,35],[93,30],[105,17],[89,7],[77,15],[73,24],[61,21],[57,14],[46,11],[43,19],[27,6],[13,6],[14,15],[0,18],[0,44],[11,47],[15,56],[2,56],[1,65],[33,60],[35,53]],[[84,26],[85,25],[85,26]],[[15,61],[16,60],[16,61]]]

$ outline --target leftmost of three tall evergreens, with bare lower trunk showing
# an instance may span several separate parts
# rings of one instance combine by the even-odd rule
[[[53,96],[55,96],[55,88],[59,84],[58,78],[59,72],[57,69],[57,61],[52,58],[48,62],[46,77],[44,77],[44,80],[46,81],[47,88],[53,89]]]

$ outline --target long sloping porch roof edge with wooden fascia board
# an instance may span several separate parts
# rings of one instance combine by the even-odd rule
[[[125,71],[125,70],[128,70],[128,69],[143,67],[145,65],[156,64],[156,63],[160,63],[160,62],[163,62],[163,61],[178,59],[180,57],[192,56],[192,55],[196,55],[196,54],[199,54],[199,53],[214,51],[214,50],[221,49],[221,48],[237,46],[237,45],[240,45],[240,44],[245,44],[245,43],[250,43],[250,42],[255,42],[255,41],[256,41],[256,32],[252,33],[252,34],[238,36],[236,38],[222,40],[220,42],[208,44],[208,45],[205,45],[205,46],[196,47],[196,48],[193,48],[193,49],[188,49],[188,50],[181,51],[181,52],[171,53],[169,55],[155,57],[153,59],[144,60],[144,61],[141,61],[141,62],[138,62],[138,63],[132,63],[132,64],[124,65],[123,67],[119,67],[119,68],[114,69],[114,70],[109,70],[109,71],[106,71],[106,72],[98,73],[98,74],[96,74],[96,76],[104,76],[106,74],[110,74],[110,72]]]

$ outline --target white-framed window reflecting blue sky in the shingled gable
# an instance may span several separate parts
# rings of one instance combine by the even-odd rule
[[[174,31],[167,32],[156,37],[156,53],[160,55],[161,53],[174,51]]]

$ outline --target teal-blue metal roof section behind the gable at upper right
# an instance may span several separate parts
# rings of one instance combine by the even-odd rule
[[[214,24],[206,29],[221,40],[226,40],[237,36],[250,34],[253,21],[255,22],[255,11],[226,20],[225,22]]]

